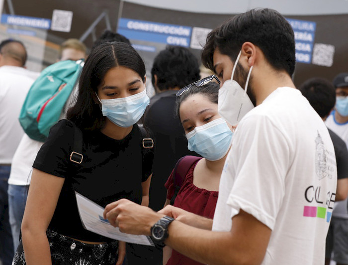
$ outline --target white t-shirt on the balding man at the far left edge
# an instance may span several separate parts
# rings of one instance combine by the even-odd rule
[[[39,73],[16,66],[0,67],[0,164],[10,164],[23,135],[18,117]]]

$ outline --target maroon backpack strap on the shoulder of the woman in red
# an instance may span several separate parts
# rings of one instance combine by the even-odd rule
[[[179,193],[179,190],[181,188],[182,182],[185,179],[188,170],[190,170],[191,166],[197,162],[202,157],[193,156],[193,155],[186,155],[184,157],[181,157],[174,167],[173,171],[173,177],[174,177],[174,195],[171,198],[171,205],[174,205],[175,198],[177,194]]]

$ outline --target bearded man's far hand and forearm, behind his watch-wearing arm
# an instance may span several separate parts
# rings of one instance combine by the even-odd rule
[[[211,230],[213,220],[187,212],[172,205],[167,205],[162,210],[158,211],[161,214],[173,217],[176,221],[180,221],[189,226]]]

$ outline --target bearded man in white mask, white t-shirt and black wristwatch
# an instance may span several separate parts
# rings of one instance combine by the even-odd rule
[[[323,265],[336,159],[323,120],[292,82],[290,24],[267,8],[238,14],[208,34],[202,61],[221,81],[220,115],[239,123],[213,222],[125,199],[104,218],[203,264]]]

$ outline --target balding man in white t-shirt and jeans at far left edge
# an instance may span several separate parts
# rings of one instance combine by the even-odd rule
[[[25,69],[26,49],[22,42],[0,43],[0,261],[10,265],[14,255],[8,217],[7,180],[13,154],[23,135],[18,116],[39,73]]]

